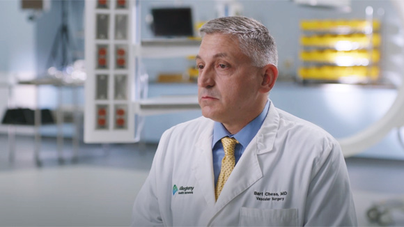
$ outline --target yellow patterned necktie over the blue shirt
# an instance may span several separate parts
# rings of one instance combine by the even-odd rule
[[[220,170],[219,178],[217,178],[215,196],[216,200],[219,198],[220,192],[226,183],[228,176],[233,171],[235,166],[234,148],[238,141],[228,136],[222,138],[224,157],[222,159],[222,169]]]

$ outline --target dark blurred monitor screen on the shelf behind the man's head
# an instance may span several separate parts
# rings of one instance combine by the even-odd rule
[[[193,36],[191,8],[153,8],[155,36]]]

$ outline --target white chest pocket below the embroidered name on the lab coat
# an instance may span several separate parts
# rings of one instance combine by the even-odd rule
[[[240,226],[297,226],[297,209],[241,208]]]

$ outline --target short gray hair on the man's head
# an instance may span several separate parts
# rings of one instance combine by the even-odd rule
[[[240,49],[251,58],[256,67],[269,63],[278,65],[278,51],[275,40],[268,29],[255,19],[248,17],[219,17],[203,24],[201,36],[223,33],[238,38]]]

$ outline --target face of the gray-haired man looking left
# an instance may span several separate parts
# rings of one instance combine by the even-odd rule
[[[221,33],[205,35],[196,67],[199,105],[206,118],[224,124],[238,123],[249,118],[251,111],[263,108],[263,94],[258,91],[261,70],[242,53],[237,38]]]

